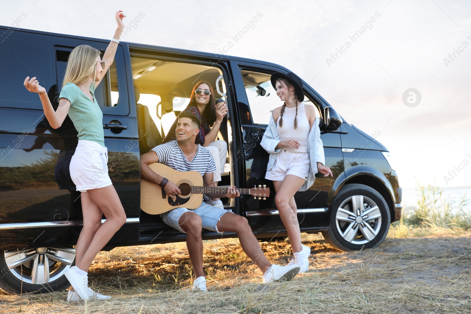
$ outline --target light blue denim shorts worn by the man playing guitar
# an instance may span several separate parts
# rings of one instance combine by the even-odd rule
[[[178,221],[183,215],[184,212],[186,211],[192,211],[199,217],[201,217],[202,220],[202,227],[203,229],[208,229],[211,231],[216,231],[219,234],[222,234],[222,232],[219,232],[218,230],[218,222],[219,219],[221,219],[222,215],[228,212],[232,212],[230,209],[222,209],[219,207],[211,206],[206,204],[205,202],[201,203],[201,206],[198,207],[197,209],[186,209],[183,207],[172,209],[171,211],[168,211],[166,213],[163,213],[160,215],[162,217],[163,222],[166,225],[170,225],[171,227],[179,230],[180,232],[186,233],[183,231],[183,229],[180,227]]]

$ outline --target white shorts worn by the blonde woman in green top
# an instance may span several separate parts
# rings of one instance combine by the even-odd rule
[[[70,177],[76,190],[86,192],[112,185],[108,176],[108,149],[96,142],[79,140],[70,161]]]

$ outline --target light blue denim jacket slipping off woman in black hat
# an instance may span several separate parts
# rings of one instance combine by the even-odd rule
[[[272,110],[273,111],[273,110]],[[260,145],[270,154],[268,159],[267,170],[270,170],[275,163],[278,153],[281,151],[280,148],[276,148],[276,145],[280,142],[278,131],[276,130],[276,122],[273,120],[273,114],[270,111],[270,122],[268,123],[267,130],[263,134]],[[324,146],[321,140],[321,132],[319,129],[319,118],[316,117],[316,121],[312,125],[308,135],[308,157],[309,157],[309,173],[306,182],[300,187],[298,191],[306,191],[314,184],[316,179],[315,174],[317,173],[317,161],[325,165]]]

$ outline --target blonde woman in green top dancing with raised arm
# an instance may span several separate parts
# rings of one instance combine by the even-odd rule
[[[103,60],[100,50],[89,45],[78,46],[70,53],[57,111],[35,77],[24,80],[26,89],[39,94],[44,115],[52,128],[60,127],[68,114],[78,131],[79,141],[69,168],[73,183],[81,192],[83,228],[77,241],[75,266],[64,273],[72,285],[67,300],[111,298],[88,287],[88,270],[97,253],[126,221],[121,201],[108,176],[103,114],[94,94],[113,63],[124,29],[122,11],[116,12],[114,17],[118,26]],[[103,224],[102,214],[106,217]]]

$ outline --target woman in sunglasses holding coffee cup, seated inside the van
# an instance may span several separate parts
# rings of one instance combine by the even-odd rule
[[[212,154],[216,163],[216,171],[213,174],[213,186],[218,186],[221,181],[221,172],[224,172],[224,165],[227,158],[227,143],[224,140],[216,140],[221,127],[222,120],[227,114],[227,105],[221,102],[215,104],[211,84],[208,82],[198,82],[191,91],[190,103],[183,111],[189,111],[201,121],[200,132],[196,136],[195,144],[206,147]],[[177,120],[173,122],[169,133],[163,140],[163,143],[176,139],[175,129]],[[206,203],[212,206],[224,208],[219,198],[209,198],[204,195]]]

